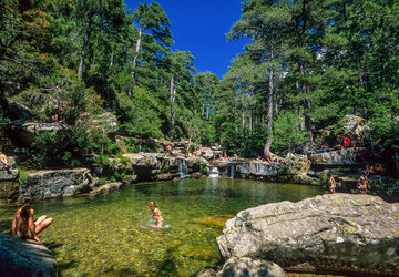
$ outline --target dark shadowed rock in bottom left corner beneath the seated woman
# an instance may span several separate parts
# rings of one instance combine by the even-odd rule
[[[57,261],[42,244],[0,236],[0,276],[58,276]]]

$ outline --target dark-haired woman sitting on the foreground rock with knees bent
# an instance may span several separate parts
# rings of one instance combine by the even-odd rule
[[[23,197],[23,206],[14,213],[12,220],[12,236],[23,239],[34,239],[41,244],[38,234],[49,227],[53,219],[42,215],[33,222],[34,209],[31,208],[31,196]]]

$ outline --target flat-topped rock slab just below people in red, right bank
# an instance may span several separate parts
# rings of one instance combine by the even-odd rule
[[[310,155],[311,166],[355,165],[356,155],[352,148],[329,151]]]

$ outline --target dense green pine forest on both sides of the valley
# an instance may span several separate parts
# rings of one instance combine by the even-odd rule
[[[356,114],[392,157],[398,16],[395,0],[243,1],[227,39],[250,43],[219,80],[197,72],[190,50],[172,50],[171,22],[156,2],[131,11],[123,0],[4,0],[1,123],[12,101],[38,120],[62,109],[72,129],[111,111],[130,136],[269,155],[311,146],[315,130]]]

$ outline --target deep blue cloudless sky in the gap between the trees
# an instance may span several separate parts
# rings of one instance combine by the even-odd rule
[[[173,50],[191,51],[200,72],[211,71],[219,79],[226,73],[232,58],[243,52],[244,40],[227,42],[226,33],[241,17],[243,0],[157,0],[165,10],[174,40]],[[140,2],[125,0],[133,11]]]

